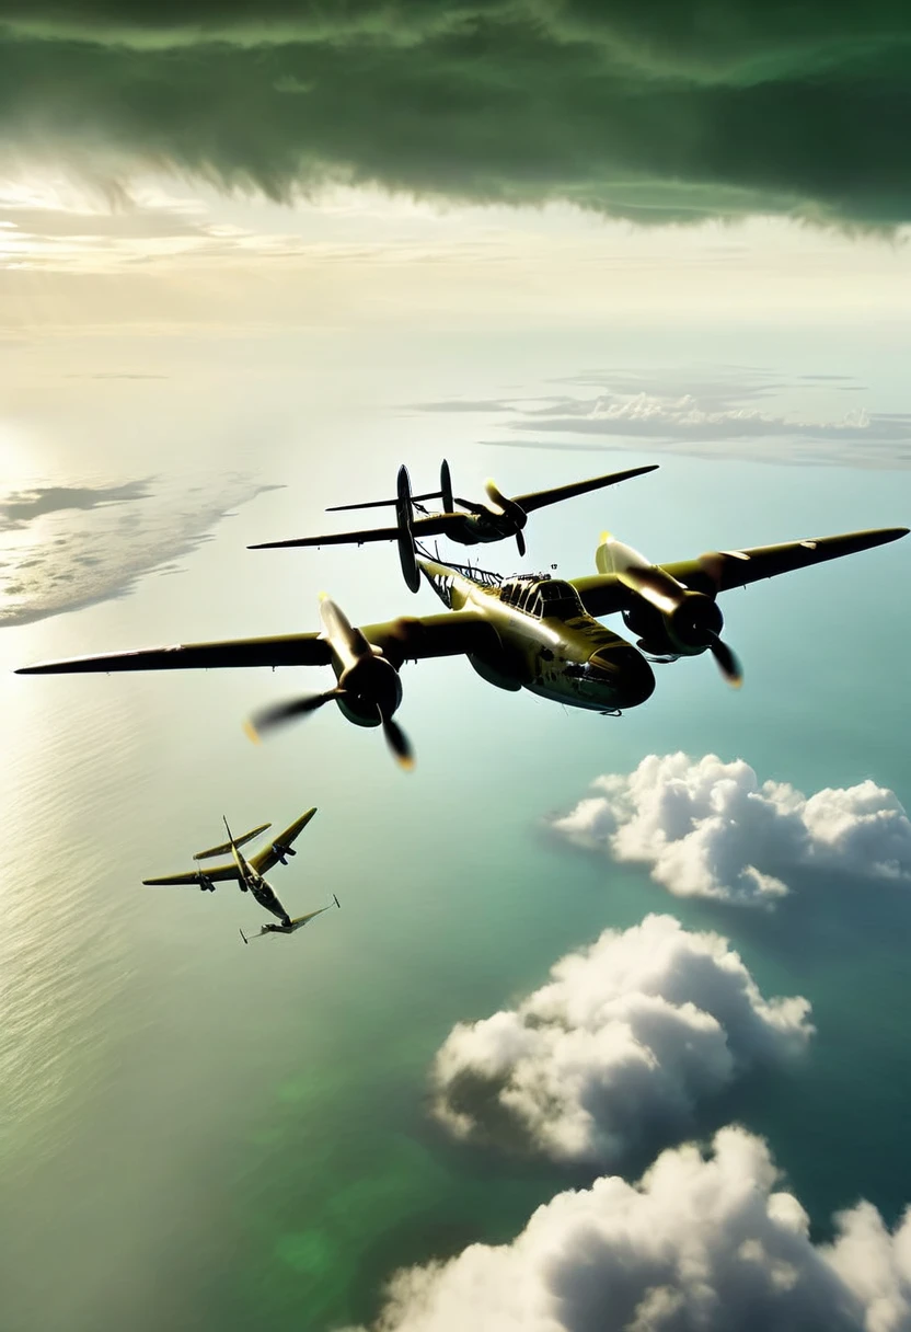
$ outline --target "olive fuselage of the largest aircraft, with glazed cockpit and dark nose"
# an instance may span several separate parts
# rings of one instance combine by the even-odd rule
[[[597,713],[637,707],[651,695],[649,662],[593,619],[570,583],[541,575],[482,582],[434,561],[420,565],[444,605],[473,610],[494,630],[490,645],[469,657],[490,683]]]

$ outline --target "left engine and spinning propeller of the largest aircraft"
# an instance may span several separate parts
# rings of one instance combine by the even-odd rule
[[[261,709],[245,723],[252,741],[278,730],[288,722],[309,717],[325,703],[345,701],[350,711],[365,725],[381,726],[386,745],[401,767],[414,767],[414,753],[393,719],[402,701],[402,682],[398,671],[382,651],[369,643],[360,629],[354,629],[345,613],[330,601],[320,599],[321,637],[332,649],[333,663],[338,669],[338,683],[321,694],[302,694]]]

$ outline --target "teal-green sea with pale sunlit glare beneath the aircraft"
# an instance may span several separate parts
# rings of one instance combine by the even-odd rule
[[[723,345],[697,353],[715,364]],[[742,757],[760,781],[807,794],[870,777],[911,807],[911,541],[733,593],[739,694],[709,661],[681,662],[657,667],[645,707],[611,719],[497,693],[461,661],[406,666],[412,775],[330,710],[252,747],[252,709],[318,687],[293,673],[11,674],[53,655],[317,627],[322,589],[354,621],[436,610],[426,589],[412,598],[401,586],[392,549],[244,546],[316,530],[324,505],[374,497],[401,460],[429,481],[444,452],[457,490],[489,473],[530,489],[663,462],[538,515],[529,563],[558,561],[566,575],[593,569],[603,527],[662,559],[908,522],[907,472],[665,460],[647,442],[498,450],[477,442],[495,437],[491,416],[401,406],[515,382],[545,392],[549,374],[623,354],[647,364],[645,348],[666,364],[670,340],[645,336],[558,354],[519,344],[495,368],[467,340],[425,345],[421,364],[374,349],[345,401],[300,366],[288,388],[298,348],[217,410],[216,370],[181,372],[176,357],[161,384],[105,385],[104,402],[79,389],[79,465],[65,405],[19,413],[20,454],[35,441],[25,480],[157,474],[173,488],[208,466],[284,489],[212,523],[168,577],[158,566],[120,597],[0,630],[4,1332],[329,1332],[369,1321],[396,1268],[510,1239],[590,1176],[449,1140],[428,1114],[433,1055],[456,1022],[509,1004],[566,951],[650,911],[718,930],[764,994],[812,1002],[806,1058],[707,1103],[701,1131],[738,1120],[766,1135],[820,1236],[859,1196],[890,1221],[911,1201],[907,886],[804,875],[758,914],[673,898],[646,870],[547,826],[598,774],[677,750]],[[779,364],[757,336],[735,354],[782,373],[858,374],[879,410],[907,406],[899,350],[839,361],[823,348],[812,360],[795,341]],[[91,534],[91,514],[80,530]],[[509,571],[517,557],[494,547],[485,561]],[[333,891],[342,910],[293,940],[244,948],[238,927],[257,915],[240,894],[140,887],[189,866],[222,813],[284,826],[309,805],[320,814],[273,882],[294,911]]]

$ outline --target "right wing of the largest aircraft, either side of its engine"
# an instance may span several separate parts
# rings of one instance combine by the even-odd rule
[[[705,591],[729,591],[731,587],[746,587],[760,578],[775,578],[778,574],[806,569],[826,559],[839,559],[854,555],[859,550],[886,545],[907,535],[907,527],[876,527],[870,531],[846,531],[838,537],[812,537],[803,541],[786,541],[778,546],[753,546],[746,550],[715,550],[697,559],[681,559],[659,567],[685,587]],[[574,578],[582,605],[590,615],[610,615],[633,605],[631,593],[615,574],[595,574],[590,578]]]

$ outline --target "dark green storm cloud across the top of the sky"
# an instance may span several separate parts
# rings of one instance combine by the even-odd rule
[[[911,220],[911,11],[812,0],[0,4],[16,147],[635,220]]]

